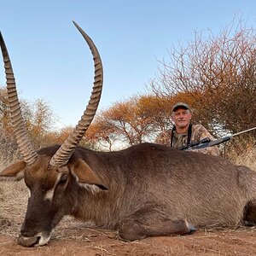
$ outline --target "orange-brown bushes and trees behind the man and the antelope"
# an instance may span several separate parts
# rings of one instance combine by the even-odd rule
[[[172,128],[175,102],[188,102],[193,122],[204,125],[217,138],[256,126],[255,32],[237,18],[217,35],[209,30],[195,32],[194,40],[173,47],[169,59],[159,61],[159,72],[148,83],[147,94],[131,96],[98,112],[83,144],[113,150],[154,142],[161,131]],[[22,108],[36,148],[62,143],[73,130],[52,131],[53,114],[43,100],[33,104],[23,100]],[[6,93],[1,89],[0,125],[3,137],[11,140],[8,110]],[[234,138],[225,147],[226,156],[232,158],[252,148],[255,138],[256,130]]]

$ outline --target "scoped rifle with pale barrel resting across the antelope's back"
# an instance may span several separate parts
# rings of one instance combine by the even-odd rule
[[[230,135],[230,136],[227,136],[227,137],[221,137],[218,140],[214,140],[214,141],[211,141],[209,137],[205,137],[197,143],[189,143],[189,145],[185,145],[185,146],[179,147],[177,149],[179,149],[179,150],[193,150],[193,149],[213,147],[213,146],[216,146],[220,143],[225,143],[225,142],[230,141],[230,139],[232,137],[235,137],[235,136],[240,135],[242,133],[245,133],[247,131],[253,131],[255,129],[256,129],[256,127],[253,127],[253,128],[247,129],[245,131],[237,132],[237,133],[235,133],[233,135]]]

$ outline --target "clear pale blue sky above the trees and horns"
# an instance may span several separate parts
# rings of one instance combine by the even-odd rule
[[[195,31],[218,34],[236,15],[256,26],[253,0],[0,0],[0,9],[19,96],[47,102],[57,128],[78,123],[93,84],[90,49],[73,20],[102,57],[100,110],[146,92],[168,49],[193,41]]]

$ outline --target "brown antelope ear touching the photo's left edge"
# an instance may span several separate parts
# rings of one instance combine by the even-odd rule
[[[24,177],[26,163],[23,160],[12,164],[0,172],[0,181],[19,181]]]

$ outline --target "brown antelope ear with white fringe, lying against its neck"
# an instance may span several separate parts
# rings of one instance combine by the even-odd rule
[[[80,185],[88,187],[88,185],[96,185],[99,189],[108,190],[108,188],[102,183],[99,177],[96,176],[96,173],[93,172],[84,160],[77,159],[73,163],[67,164],[69,169],[73,174],[78,178]],[[93,189],[93,188],[91,188]]]

